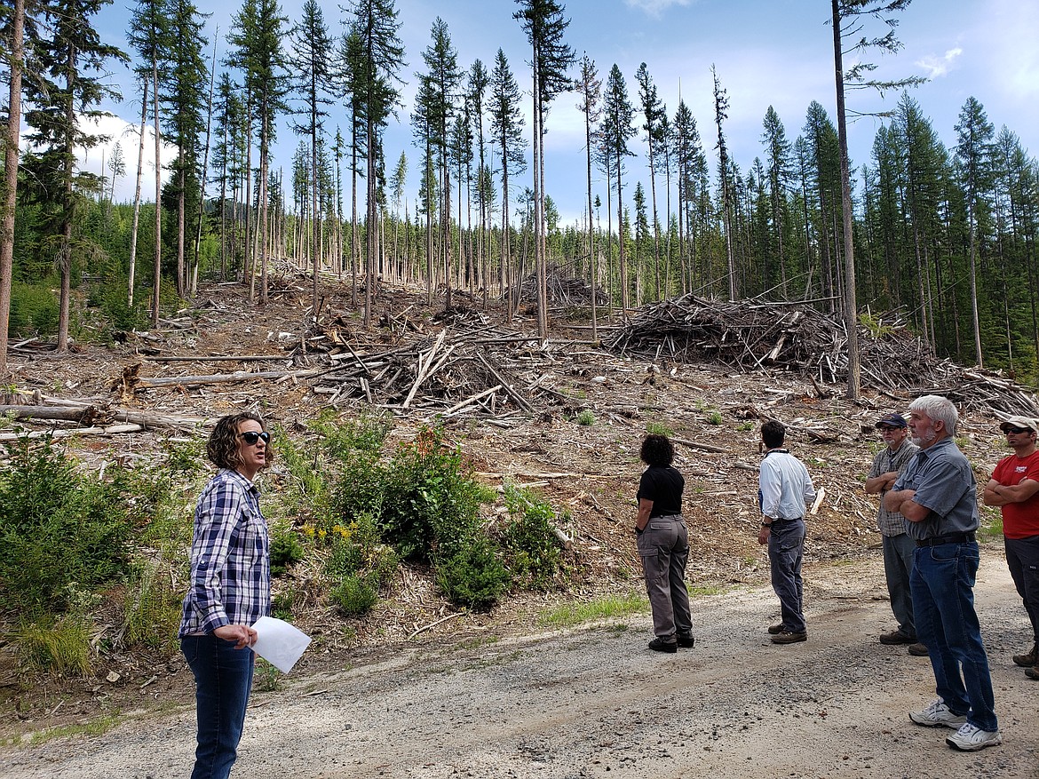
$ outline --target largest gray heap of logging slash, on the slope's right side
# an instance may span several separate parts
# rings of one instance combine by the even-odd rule
[[[944,395],[978,410],[1039,417],[1039,402],[998,374],[938,359],[903,321],[859,327],[861,382],[896,399]],[[848,331],[809,305],[694,295],[644,306],[604,346],[621,354],[677,362],[716,362],[741,372],[779,369],[815,382],[848,380]]]

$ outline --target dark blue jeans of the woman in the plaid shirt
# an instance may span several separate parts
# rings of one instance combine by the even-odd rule
[[[238,756],[256,655],[213,635],[185,636],[181,651],[195,677],[198,746],[191,779],[227,779]]]

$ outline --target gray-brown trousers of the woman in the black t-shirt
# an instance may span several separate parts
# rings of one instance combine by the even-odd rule
[[[652,609],[654,634],[675,641],[675,632],[693,629],[686,589],[689,532],[680,515],[655,516],[638,537],[639,557],[646,579],[646,594]]]

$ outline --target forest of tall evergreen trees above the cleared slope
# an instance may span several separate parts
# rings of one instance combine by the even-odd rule
[[[366,323],[380,283],[511,315],[535,277],[547,333],[547,278],[562,272],[603,291],[589,318],[686,294],[803,301],[873,327],[905,322],[936,357],[1037,381],[1039,164],[989,122],[984,96],[940,128],[955,136],[947,146],[913,79],[846,71],[848,83],[896,87],[869,159],[848,167],[849,219],[841,117],[821,102],[788,124],[770,107],[760,155],[734,159],[719,75],[714,114],[697,123],[685,101],[666,105],[651,61],[622,73],[579,56],[557,0],[503,4],[529,48],[471,63],[442,19],[426,48],[405,52],[394,0],[307,0],[295,19],[276,0],[242,0],[219,41],[191,0],[137,0],[125,39],[105,41],[106,4],[0,7],[0,346],[42,335],[62,350],[148,327],[209,280],[241,281],[263,304],[290,269],[313,279],[315,300],[322,277],[350,279]],[[906,5],[833,0],[835,48],[851,52],[863,27],[886,29]],[[117,69],[134,93],[116,95]],[[417,97],[405,105],[406,81]],[[104,176],[85,172],[78,156],[105,140],[91,119],[116,98],[139,107],[137,132],[112,146]],[[586,129],[574,150],[584,194],[563,209],[582,216],[569,223],[544,186],[563,100]],[[409,127],[409,146],[389,147],[392,123]],[[279,158],[290,133],[295,151]],[[165,169],[137,162],[145,143],[165,150]],[[127,178],[136,194],[123,202]]]

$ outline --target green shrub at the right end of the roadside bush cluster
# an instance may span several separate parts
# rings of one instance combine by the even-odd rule
[[[501,544],[513,581],[526,588],[550,586],[562,564],[553,530],[556,512],[534,492],[509,484],[505,485],[505,506],[510,518]]]

